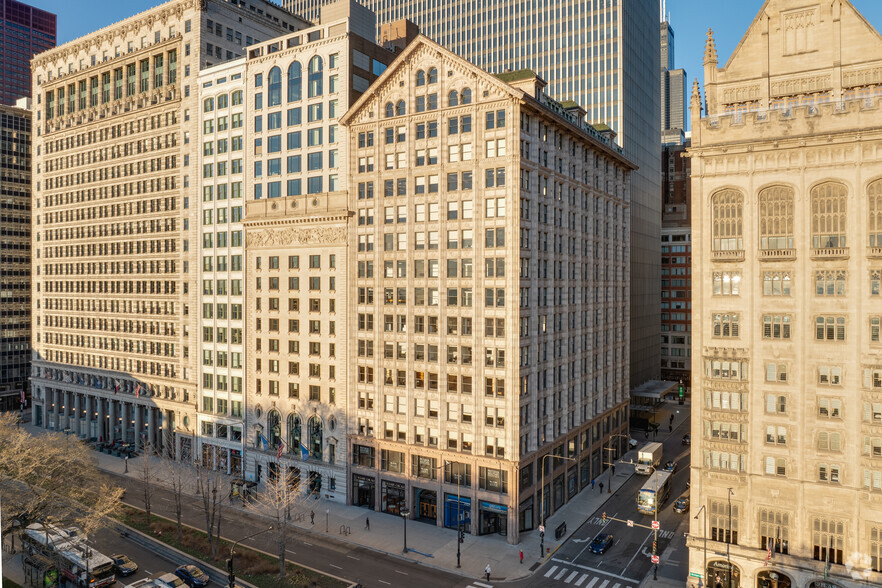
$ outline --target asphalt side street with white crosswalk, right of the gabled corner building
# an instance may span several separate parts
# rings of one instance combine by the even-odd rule
[[[669,439],[663,441],[662,464],[669,459],[677,460],[671,486],[671,496],[659,513],[660,531],[658,535],[658,554],[662,554],[671,540],[688,530],[689,514],[673,511],[674,501],[687,491],[689,480],[689,447],[682,445],[683,434],[689,432],[689,423],[674,430]],[[642,434],[637,438],[640,439]],[[606,476],[603,476],[605,478]],[[573,533],[552,557],[538,568],[536,573],[520,582],[510,585],[521,587],[567,586],[576,588],[637,588],[650,572],[652,563],[653,531],[641,527],[629,527],[627,522],[607,520],[602,522],[602,514],[608,517],[631,520],[635,524],[650,527],[652,516],[637,512],[637,492],[648,478],[634,475],[624,485],[613,488],[612,497]],[[590,492],[590,490],[588,490]],[[588,551],[588,544],[598,533],[612,533],[615,541],[603,555]],[[683,562],[661,561],[662,567],[680,566]]]

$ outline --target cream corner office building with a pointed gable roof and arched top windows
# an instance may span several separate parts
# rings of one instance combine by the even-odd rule
[[[627,429],[633,165],[544,86],[419,36],[343,117],[353,504],[514,543]]]

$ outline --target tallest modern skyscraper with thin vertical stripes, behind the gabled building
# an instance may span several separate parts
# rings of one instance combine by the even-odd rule
[[[326,0],[284,0],[314,20]],[[378,23],[406,18],[427,37],[495,74],[529,68],[548,93],[608,124],[638,169],[631,174],[630,384],[659,375],[659,2],[551,3],[365,0]],[[386,45],[391,39],[379,38]]]

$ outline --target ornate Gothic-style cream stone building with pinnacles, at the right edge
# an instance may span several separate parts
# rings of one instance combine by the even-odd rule
[[[848,1],[769,0],[704,64],[690,572],[879,585],[882,38]]]

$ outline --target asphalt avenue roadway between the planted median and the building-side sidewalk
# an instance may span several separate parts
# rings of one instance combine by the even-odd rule
[[[126,488],[125,502],[137,507],[144,506],[143,493],[137,490],[140,485],[138,480],[126,476],[108,475],[114,477],[117,484]],[[174,519],[174,497],[169,490],[156,486],[151,507],[155,514]],[[204,527],[205,518],[201,502],[185,501],[183,515],[185,523],[197,529]],[[267,520],[254,514],[245,513],[238,509],[224,509],[221,535],[236,540],[239,537],[247,537],[265,529],[268,524]],[[273,554],[278,549],[272,533],[265,533],[244,541],[243,545]],[[443,570],[413,564],[385,553],[343,543],[324,536],[322,533],[304,533],[293,527],[288,535],[286,551],[289,561],[293,563],[303,564],[352,582],[359,582],[364,588],[389,588],[390,586],[419,586],[420,588],[476,586],[484,588],[484,586],[489,586],[476,584],[474,581]],[[141,565],[134,555],[131,557]]]

